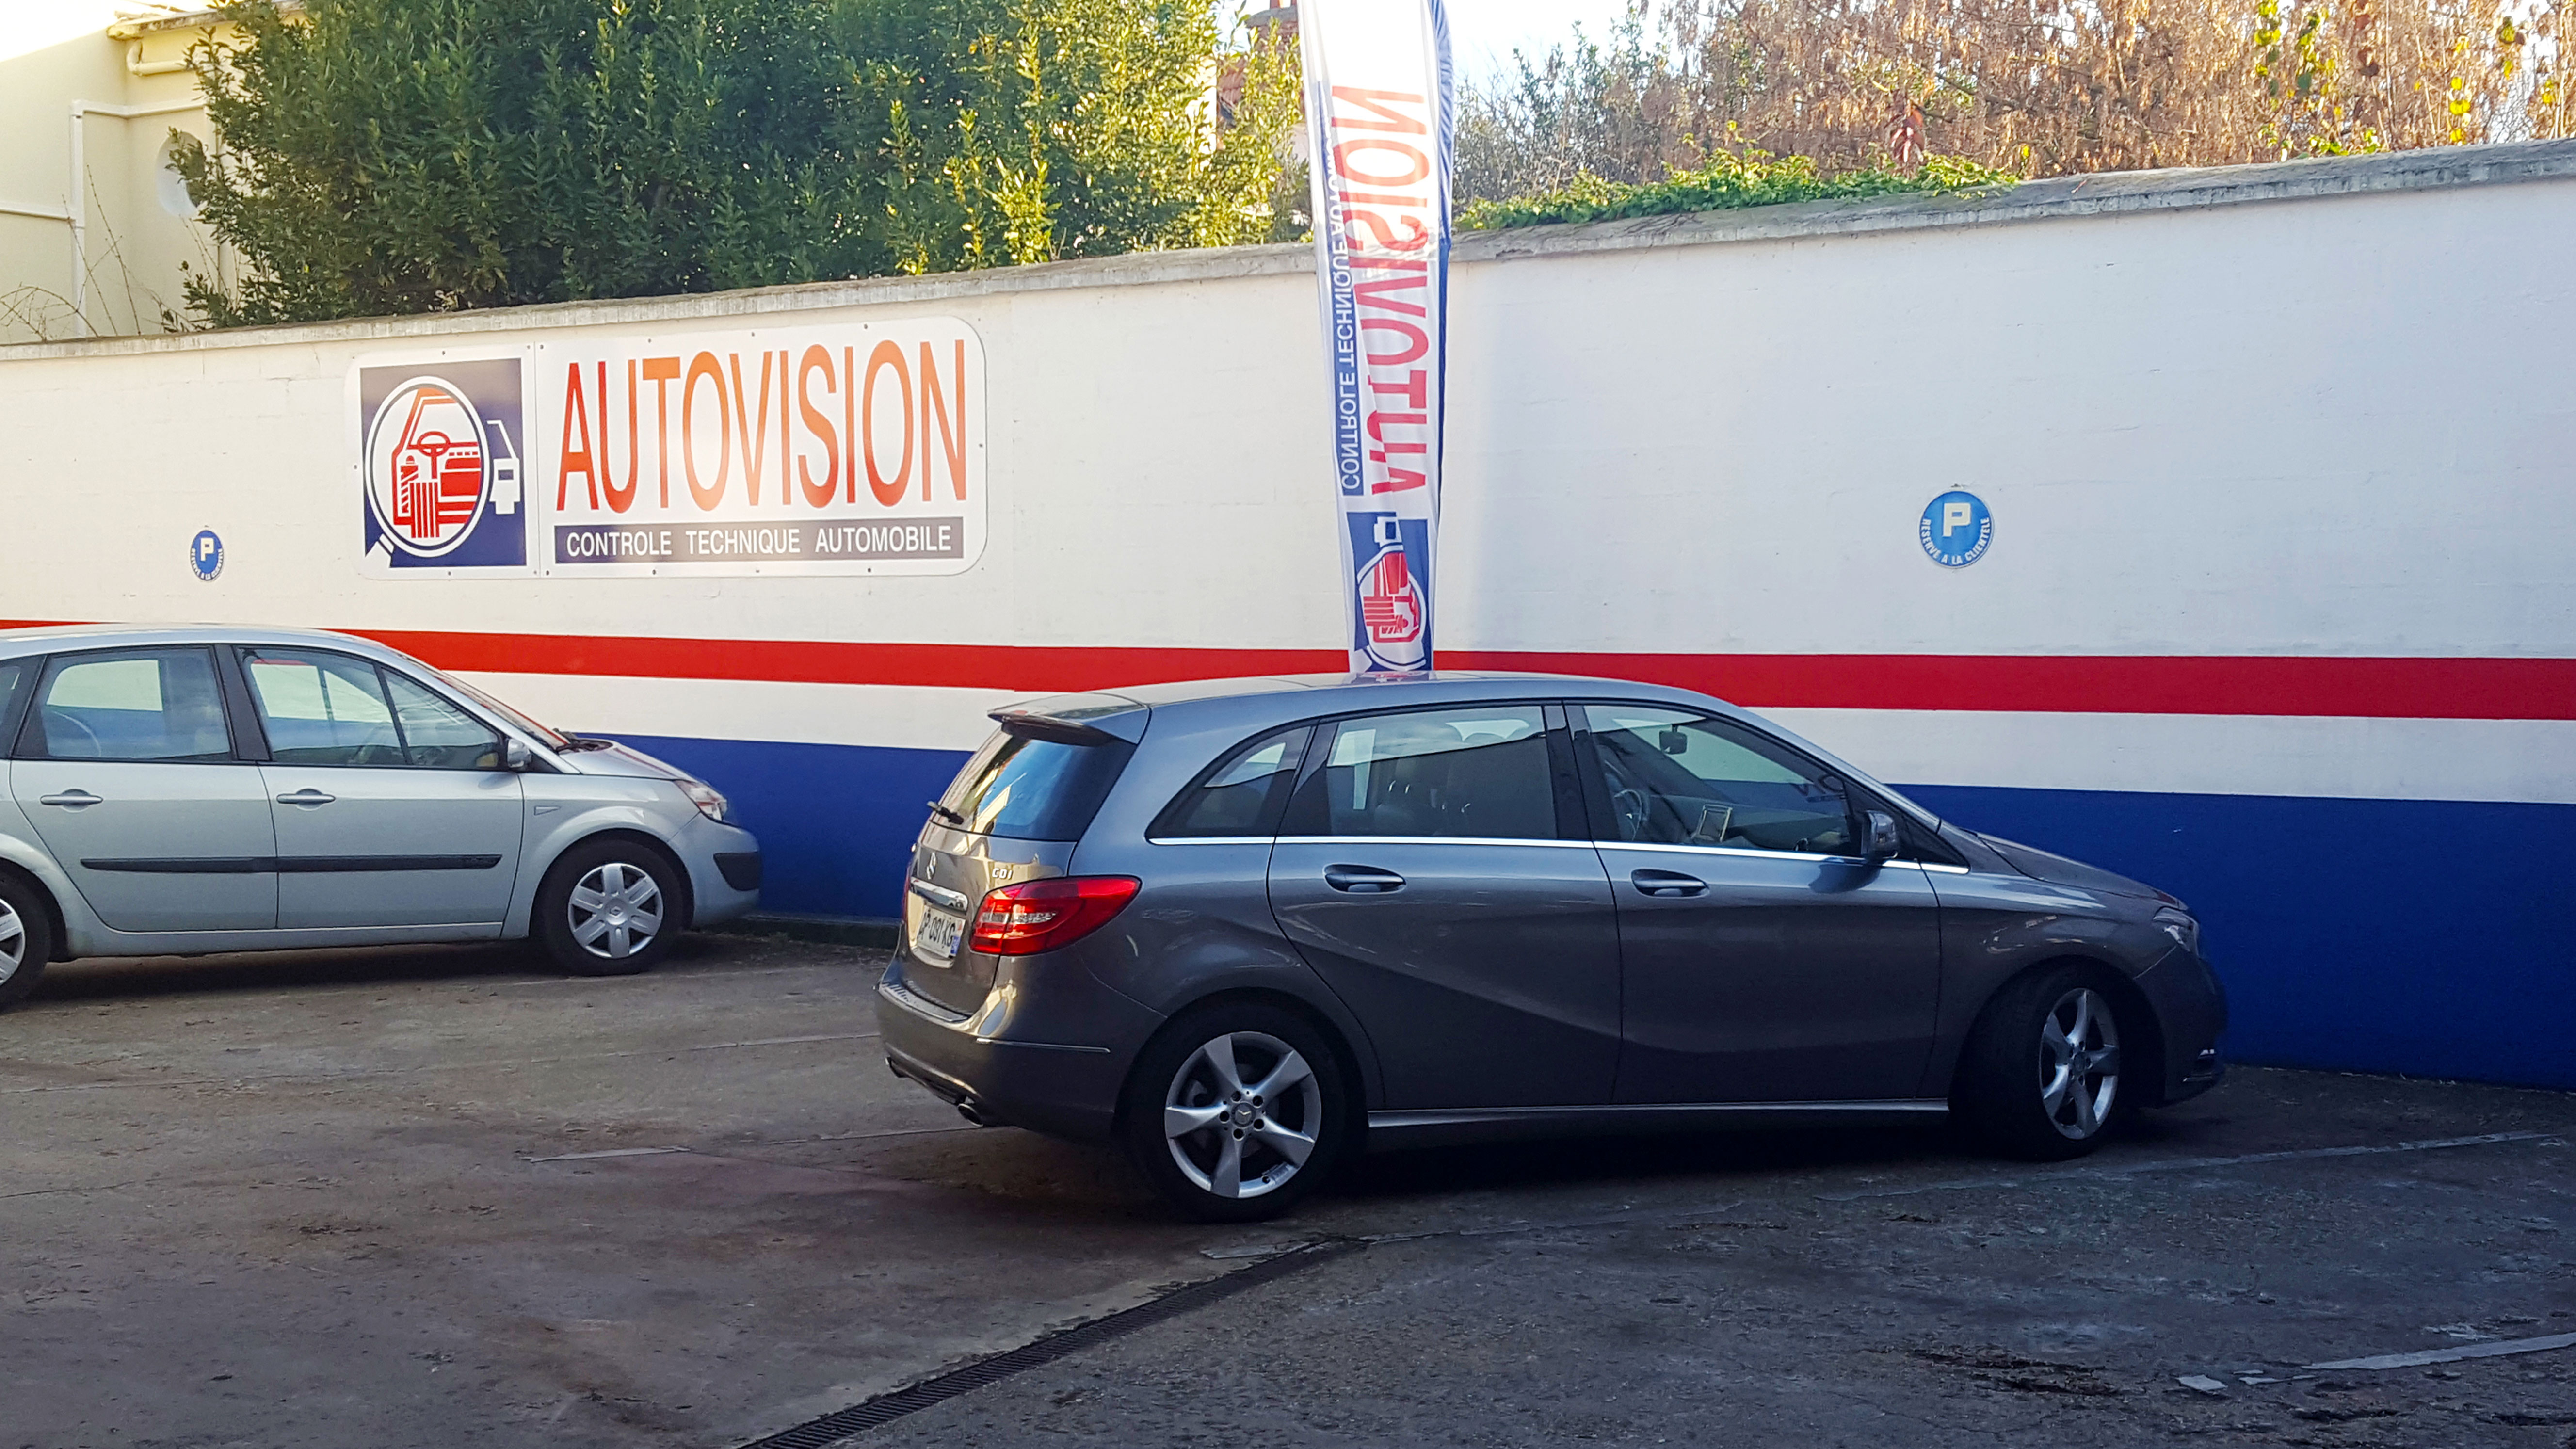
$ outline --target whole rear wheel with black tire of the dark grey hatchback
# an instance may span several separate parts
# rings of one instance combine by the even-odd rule
[[[1360,1132],[1332,1036],[1265,1000],[1175,1016],[1136,1055],[1118,1119],[1136,1168],[1198,1222],[1293,1209]]]

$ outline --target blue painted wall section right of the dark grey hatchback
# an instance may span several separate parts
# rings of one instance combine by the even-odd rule
[[[2576,1088],[2576,804],[1904,792],[2190,902],[2236,1060]]]

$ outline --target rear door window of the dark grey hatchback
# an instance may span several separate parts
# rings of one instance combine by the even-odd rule
[[[1535,704],[1345,719],[1319,773],[1329,835],[1556,838],[1548,730]]]

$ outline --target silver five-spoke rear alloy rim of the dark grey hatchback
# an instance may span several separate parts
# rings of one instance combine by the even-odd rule
[[[1190,1052],[1162,1098],[1180,1176],[1216,1196],[1262,1196],[1298,1176],[1324,1127],[1324,1088],[1288,1042],[1229,1031]]]

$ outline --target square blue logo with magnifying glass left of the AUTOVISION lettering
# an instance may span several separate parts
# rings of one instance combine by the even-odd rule
[[[520,358],[358,369],[368,565],[528,565],[520,389]]]

